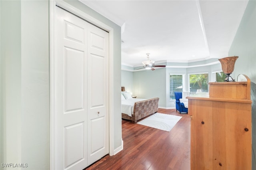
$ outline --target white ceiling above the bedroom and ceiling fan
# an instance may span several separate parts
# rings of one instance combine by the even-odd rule
[[[122,27],[122,64],[228,56],[248,0],[80,0]]]

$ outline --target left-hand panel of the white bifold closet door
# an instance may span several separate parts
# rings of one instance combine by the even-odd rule
[[[56,7],[54,27],[54,169],[83,169],[88,166],[87,23]]]

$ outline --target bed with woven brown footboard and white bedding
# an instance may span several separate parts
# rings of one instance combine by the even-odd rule
[[[132,98],[131,94],[125,93],[122,92],[121,94],[122,119],[131,120],[132,123],[136,123],[138,120],[158,111],[159,98]]]

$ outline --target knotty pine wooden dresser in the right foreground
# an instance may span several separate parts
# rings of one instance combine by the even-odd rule
[[[188,96],[191,170],[251,170],[252,111],[247,82],[210,82]]]

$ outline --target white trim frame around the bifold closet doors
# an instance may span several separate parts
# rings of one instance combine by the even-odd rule
[[[99,20],[93,18],[92,16],[86,14],[85,12],[75,8],[74,6],[64,2],[63,0],[52,0],[49,1],[49,39],[50,39],[50,170],[54,170],[55,167],[55,70],[54,70],[54,17],[55,6],[58,5],[73,14],[95,24],[96,26],[107,30],[109,32],[109,154],[114,155],[114,29]],[[84,167],[85,168],[85,167]]]

